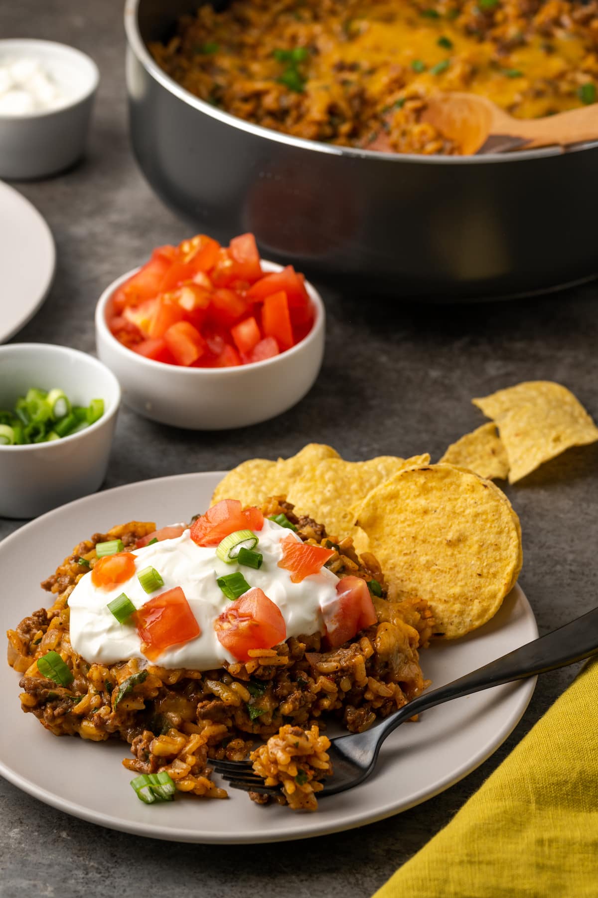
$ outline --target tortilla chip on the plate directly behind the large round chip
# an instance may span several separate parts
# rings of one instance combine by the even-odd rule
[[[351,536],[355,540],[359,535],[354,526],[356,508],[368,493],[397,471],[412,463],[419,464],[422,459],[429,462],[429,455],[406,461],[394,455],[380,455],[367,462],[325,459],[304,469],[302,476],[290,484],[287,498],[302,514],[324,524],[330,535],[339,539]]]

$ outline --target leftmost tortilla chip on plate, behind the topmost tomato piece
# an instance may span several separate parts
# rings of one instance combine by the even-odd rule
[[[309,443],[288,459],[269,462],[252,458],[238,464],[222,478],[212,496],[212,503],[235,498],[242,505],[260,505],[270,496],[286,496],[290,483],[304,471],[326,458],[340,458],[332,446]]]

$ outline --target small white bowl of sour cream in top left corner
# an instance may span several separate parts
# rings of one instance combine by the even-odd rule
[[[74,47],[0,40],[0,178],[44,178],[77,162],[99,80]]]

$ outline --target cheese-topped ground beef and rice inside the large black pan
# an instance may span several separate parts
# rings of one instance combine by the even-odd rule
[[[234,0],[150,49],[186,90],[265,128],[459,154],[421,119],[430,92],[480,93],[522,119],[596,101],[598,2]]]

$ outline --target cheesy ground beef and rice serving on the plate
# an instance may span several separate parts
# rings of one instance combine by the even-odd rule
[[[196,796],[227,796],[212,780],[211,758],[240,761],[253,750],[255,770],[266,783],[282,785],[282,803],[313,809],[318,780],[330,773],[328,740],[320,730],[327,720],[338,720],[361,732],[419,695],[429,684],[419,649],[428,644],[434,621],[427,603],[394,601],[377,560],[368,553],[359,557],[351,539],[337,543],[321,524],[296,515],[283,497],[267,500],[262,511],[286,515],[304,543],[332,545],[326,567],[337,577],[376,581],[377,623],[334,649],[317,632],[251,650],[247,661],[212,671],[169,669],[138,658],[90,664],[71,645],[68,599],[87,569],[80,559],[94,568],[97,543],[120,539],[132,549],[155,529],[153,523],[122,524],[79,543],[42,583],[53,600],[48,610],[8,631],[8,662],[22,674],[22,709],[55,735],[126,742],[133,755],[123,762],[129,770],[167,772],[178,791]],[[39,673],[36,662],[50,651],[73,674],[68,688]]]

